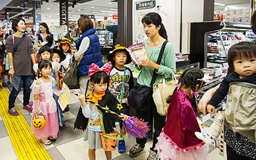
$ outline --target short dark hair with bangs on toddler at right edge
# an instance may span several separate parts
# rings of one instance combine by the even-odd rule
[[[230,49],[228,50],[228,66],[230,71],[235,71],[234,61],[237,58],[242,57],[256,57],[256,44],[248,41],[243,41],[230,47]]]

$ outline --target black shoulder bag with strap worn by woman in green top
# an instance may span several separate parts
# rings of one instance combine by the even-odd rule
[[[168,41],[165,41],[161,46],[160,54],[158,56],[158,61],[156,64],[160,64],[161,57],[163,56],[163,50],[165,49],[165,45]],[[156,70],[154,70],[153,77],[150,83],[150,87],[146,85],[140,85],[139,83],[135,83],[133,89],[131,90],[128,96],[128,103],[132,108],[141,111],[149,111],[151,109],[153,102],[153,89],[152,86],[156,81]]]

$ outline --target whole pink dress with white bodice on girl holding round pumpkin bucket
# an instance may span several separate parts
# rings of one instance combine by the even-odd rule
[[[56,112],[56,102],[53,99],[53,92],[58,95],[60,95],[61,92],[53,90],[52,86],[55,79],[50,79],[51,81],[48,83],[43,83],[41,79],[37,79],[37,81],[41,81],[41,85],[35,85],[36,81],[34,81],[31,87],[34,94],[39,94],[39,108],[41,108],[43,116],[46,119],[43,128],[35,129],[33,126],[31,127],[35,138],[47,139],[49,136],[56,138],[58,134],[58,116]],[[32,119],[34,117],[35,110],[33,110]]]

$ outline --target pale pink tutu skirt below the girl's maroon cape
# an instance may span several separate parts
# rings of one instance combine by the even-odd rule
[[[194,149],[177,150],[177,148],[173,146],[173,143],[170,143],[169,139],[167,139],[163,133],[158,137],[158,143],[155,148],[155,150],[158,151],[158,156],[161,160],[205,160],[209,155],[209,146],[207,145],[201,145]]]

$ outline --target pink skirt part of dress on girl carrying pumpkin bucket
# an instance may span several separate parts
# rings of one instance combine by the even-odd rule
[[[46,123],[45,126],[41,129],[35,129],[33,126],[31,127],[35,138],[43,140],[47,139],[49,136],[56,138],[58,136],[58,116],[56,112],[56,102],[54,99],[47,100],[44,102],[39,102],[39,106],[43,112]],[[35,114],[33,114],[32,120],[34,117]]]

